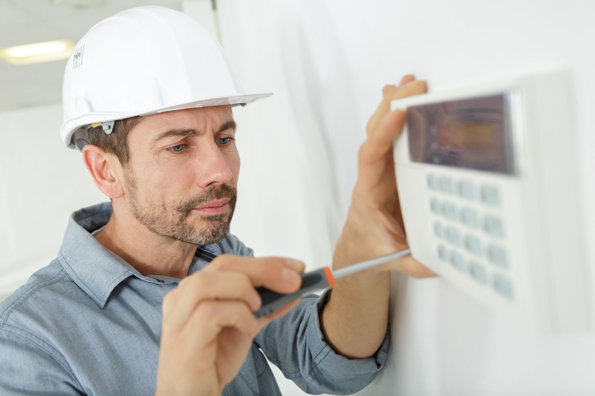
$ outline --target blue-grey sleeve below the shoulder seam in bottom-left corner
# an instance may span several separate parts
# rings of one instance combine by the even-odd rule
[[[20,328],[0,328],[1,395],[83,395],[61,354]]]

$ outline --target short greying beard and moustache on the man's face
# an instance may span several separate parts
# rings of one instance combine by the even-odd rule
[[[152,233],[199,246],[220,242],[229,234],[231,218],[236,209],[236,188],[223,184],[181,202],[155,204],[150,199],[143,199],[147,202],[143,207],[137,198],[137,185],[133,175],[127,175],[126,179],[129,186],[130,210],[136,220]],[[193,208],[224,198],[229,198],[226,213],[199,215],[206,222],[202,227],[188,221]]]

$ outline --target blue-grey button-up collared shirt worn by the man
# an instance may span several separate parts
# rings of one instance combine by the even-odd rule
[[[152,395],[161,302],[179,278],[143,276],[90,232],[111,203],[76,211],[58,257],[0,303],[1,395]],[[188,274],[216,256],[252,256],[237,237],[199,246]],[[304,297],[255,338],[224,395],[280,395],[268,359],[311,394],[350,394],[383,367],[389,333],[374,357],[347,359],[325,343],[318,315],[327,297]]]

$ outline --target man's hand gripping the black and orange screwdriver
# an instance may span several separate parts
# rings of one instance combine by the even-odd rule
[[[255,287],[293,293],[303,262],[223,254],[184,278],[162,304],[156,395],[220,395],[242,366],[252,340],[297,300],[256,319]]]

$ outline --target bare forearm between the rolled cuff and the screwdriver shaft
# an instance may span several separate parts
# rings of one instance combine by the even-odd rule
[[[337,243],[333,268],[350,262],[342,240]],[[321,312],[321,330],[333,350],[349,358],[374,355],[386,335],[390,272],[366,271],[336,281]]]

